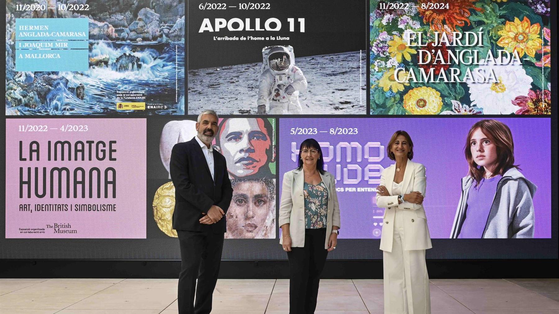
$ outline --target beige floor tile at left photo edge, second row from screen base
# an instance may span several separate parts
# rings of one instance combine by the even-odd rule
[[[16,294],[0,296],[0,308],[59,309],[74,304],[91,294]]]

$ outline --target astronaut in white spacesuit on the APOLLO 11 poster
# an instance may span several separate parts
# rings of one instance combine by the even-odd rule
[[[291,46],[264,47],[258,88],[258,114],[301,114],[299,93],[307,88],[305,75],[295,66]]]

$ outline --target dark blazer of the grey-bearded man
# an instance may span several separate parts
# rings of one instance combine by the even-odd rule
[[[212,205],[229,209],[233,188],[229,180],[225,157],[214,149],[214,176],[211,178],[206,156],[196,138],[173,146],[170,160],[170,175],[175,187],[173,229],[226,232],[225,215],[215,224],[200,223],[202,212],[207,214]],[[215,183],[214,183],[215,182]]]

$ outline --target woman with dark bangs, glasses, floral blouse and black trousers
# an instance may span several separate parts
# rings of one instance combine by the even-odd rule
[[[340,229],[334,176],[324,171],[315,139],[301,143],[298,164],[283,175],[279,219],[280,243],[289,259],[290,314],[314,313],[320,273]]]

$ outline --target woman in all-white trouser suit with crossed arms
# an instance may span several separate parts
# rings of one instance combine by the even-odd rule
[[[381,235],[386,314],[431,312],[425,249],[432,245],[422,205],[425,166],[411,161],[413,147],[407,132],[394,133],[386,150],[396,163],[382,171],[377,187],[377,207],[386,208]]]

